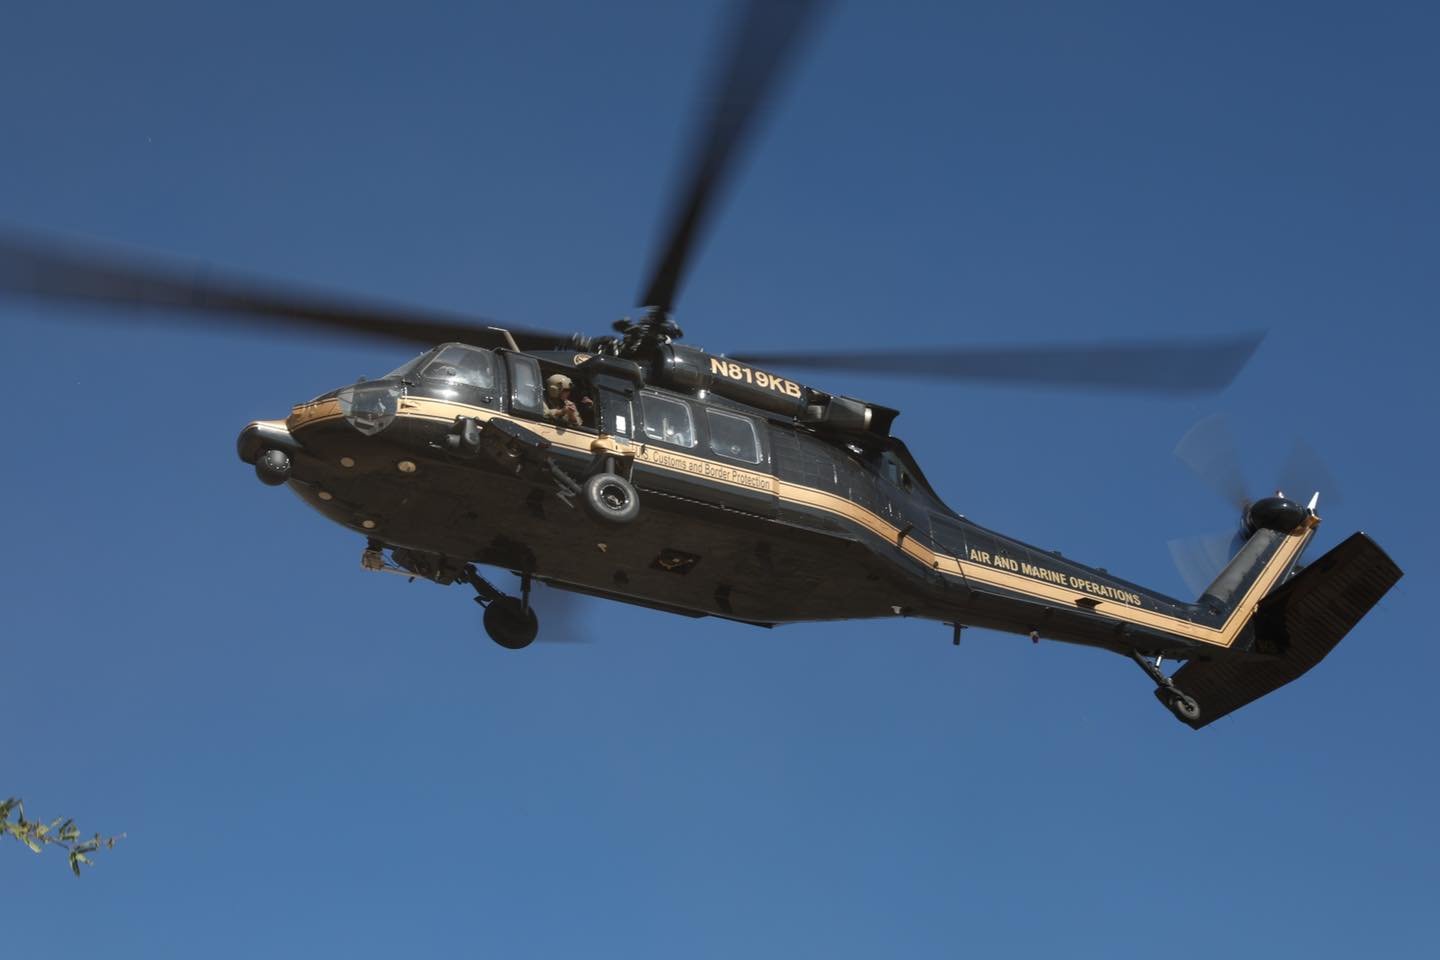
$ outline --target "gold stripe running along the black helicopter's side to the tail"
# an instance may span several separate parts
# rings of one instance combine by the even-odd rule
[[[285,426],[291,433],[297,433],[304,427],[336,420],[341,416],[338,400],[318,400],[297,406],[291,412],[289,419],[285,420]],[[458,416],[468,416],[481,422],[491,419],[513,419],[484,407],[454,403],[451,400],[433,400],[429,397],[402,399],[396,416],[433,420],[438,423],[452,423]],[[593,433],[559,427],[552,423],[544,423],[543,420],[514,419],[514,422],[524,426],[527,430],[533,430],[534,433],[544,436],[553,445],[567,450],[589,453],[590,445],[595,442]],[[672,474],[694,476],[707,482],[724,484],[749,492],[769,492],[780,501],[799,504],[802,507],[809,507],[812,510],[848,520],[881,540],[897,544],[899,550],[914,558],[917,563],[922,563],[946,576],[959,577],[968,583],[1001,587],[1014,593],[1057,603],[1064,607],[1073,607],[1080,600],[1084,600],[1087,604],[1096,602],[1096,597],[1089,593],[1068,590],[1066,587],[1032,580],[1017,573],[1008,573],[995,567],[962,560],[960,557],[936,553],[914,537],[904,537],[901,528],[884,517],[880,517],[874,511],[870,511],[837,494],[782,481],[763,471],[752,471],[726,463],[717,463],[716,461],[683,453],[670,448],[657,448],[649,443],[636,443],[621,438],[611,439],[613,439],[619,448],[634,449],[635,461],[638,463],[645,463],[647,466]],[[1240,632],[1250,620],[1256,606],[1260,603],[1260,599],[1264,597],[1272,587],[1274,587],[1274,583],[1280,579],[1280,576],[1283,576],[1283,573],[1295,563],[1295,558],[1299,556],[1300,550],[1305,548],[1305,544],[1309,541],[1313,530],[1315,527],[1312,522],[1287,534],[1284,544],[1274,553],[1273,557],[1270,557],[1269,563],[1266,563],[1264,569],[1260,571],[1260,576],[1250,584],[1244,597],[1241,597],[1241,600],[1230,612],[1225,622],[1218,628],[1205,626],[1184,617],[1175,617],[1155,610],[1145,610],[1142,607],[1133,607],[1112,600],[1100,600],[1094,603],[1094,610],[1104,617],[1122,623],[1133,623],[1136,626],[1145,626],[1165,633],[1184,636],[1200,643],[1228,648],[1236,642],[1236,638],[1240,636]],[[1104,609],[1102,610],[1100,607]]]

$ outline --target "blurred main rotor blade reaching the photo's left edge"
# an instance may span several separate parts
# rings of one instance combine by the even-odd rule
[[[330,332],[431,347],[474,340],[491,325],[480,317],[380,301],[302,292],[242,279],[206,265],[0,233],[0,294],[71,304],[143,307],[156,318],[192,322],[189,314],[223,314],[239,325],[289,332]],[[566,334],[510,328],[524,348],[557,345]]]

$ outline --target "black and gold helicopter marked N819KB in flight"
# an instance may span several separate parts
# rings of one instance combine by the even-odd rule
[[[720,356],[680,343],[672,314],[694,245],[821,6],[744,9],[645,312],[612,334],[359,304],[22,235],[0,237],[0,289],[428,347],[251,423],[239,455],[364,537],[366,569],[471,586],[505,648],[537,636],[540,581],[759,626],[910,616],[949,625],[956,643],[979,626],[1099,646],[1139,664],[1194,728],[1300,676],[1401,576],[1364,534],[1302,569],[1316,499],[1246,505],[1243,545],[1197,600],[1178,600],[968,521],[891,435],[899,410],[770,370],[1208,390],[1259,337],[924,354]],[[513,571],[517,596],[480,566]],[[1184,666],[1166,674],[1166,659]]]

